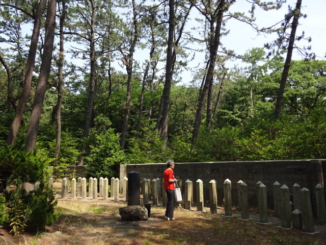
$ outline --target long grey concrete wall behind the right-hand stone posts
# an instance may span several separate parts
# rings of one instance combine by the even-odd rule
[[[120,176],[122,180],[130,171],[138,171],[141,180],[162,179],[165,163],[153,164],[129,164],[120,165]],[[218,203],[223,204],[223,183],[229,179],[232,183],[232,205],[237,206],[237,182],[242,180],[248,185],[249,204],[256,206],[256,183],[261,181],[267,187],[268,207],[273,208],[273,184],[278,181],[281,185],[287,185],[292,192],[293,184],[301,188],[306,187],[312,193],[314,200],[314,187],[320,183],[325,186],[326,159],[313,160],[282,160],[282,161],[237,161],[237,162],[197,162],[176,163],[174,176],[183,182],[187,179],[194,182],[194,193],[196,193],[195,182],[201,179],[204,183],[204,199],[208,200],[208,183],[214,179],[217,183]],[[195,194],[194,194],[195,195]],[[196,199],[196,195],[194,197]],[[314,201],[313,201],[314,202]],[[314,205],[314,203],[313,203]]]

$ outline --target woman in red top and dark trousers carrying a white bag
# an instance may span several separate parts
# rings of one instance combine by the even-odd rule
[[[173,175],[174,161],[169,159],[167,161],[167,169],[164,171],[164,189],[168,195],[167,209],[165,211],[165,219],[174,220],[173,211],[174,211],[174,183],[178,180],[174,178]]]

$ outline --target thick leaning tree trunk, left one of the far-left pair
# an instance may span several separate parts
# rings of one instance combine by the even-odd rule
[[[15,112],[15,117],[11,124],[10,131],[9,131],[9,134],[8,134],[8,137],[6,140],[7,144],[12,145],[15,143],[17,133],[19,130],[19,126],[20,126],[22,116],[24,113],[24,109],[26,106],[26,102],[30,95],[32,77],[33,77],[33,68],[34,68],[36,51],[37,51],[37,43],[39,40],[41,20],[42,20],[43,12],[46,7],[46,2],[47,2],[47,0],[40,0],[39,5],[36,9],[33,33],[32,33],[32,37],[31,37],[30,51],[29,51],[29,56],[27,58],[27,64],[26,64],[24,84],[23,84],[22,92],[21,92],[19,102],[17,105],[17,109]]]

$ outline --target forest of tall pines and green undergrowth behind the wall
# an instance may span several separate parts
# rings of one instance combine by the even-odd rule
[[[325,158],[324,51],[295,32],[311,16],[288,2],[1,0],[2,154],[96,178],[169,158]],[[275,23],[256,19],[281,4]],[[231,50],[230,21],[266,42]]]

